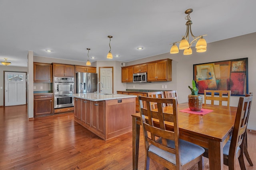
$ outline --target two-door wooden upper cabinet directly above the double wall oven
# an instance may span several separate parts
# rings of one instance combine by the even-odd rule
[[[74,65],[68,64],[53,64],[54,76],[74,77]]]

